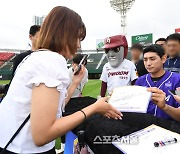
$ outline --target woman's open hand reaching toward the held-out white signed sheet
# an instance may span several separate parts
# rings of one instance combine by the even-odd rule
[[[118,111],[117,109],[115,109],[112,105],[108,104],[107,103],[108,99],[109,97],[103,97],[95,102],[94,105],[96,106],[96,112],[108,118],[122,120],[122,116],[123,116],[122,113]]]

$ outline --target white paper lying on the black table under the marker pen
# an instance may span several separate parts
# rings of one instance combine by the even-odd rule
[[[134,132],[128,136],[136,136],[137,143],[123,144],[121,138],[112,144],[120,149],[124,154],[179,154],[180,134],[171,132],[162,127],[151,125],[145,129]],[[154,147],[154,142],[165,141],[176,138],[177,143],[166,146]]]

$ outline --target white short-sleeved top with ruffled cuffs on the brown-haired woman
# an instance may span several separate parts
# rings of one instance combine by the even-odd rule
[[[57,118],[62,115],[67,93],[66,88],[69,85],[65,58],[56,52],[38,51],[25,59],[18,66],[9,91],[0,104],[1,148],[4,148],[30,113],[33,86],[44,83],[47,87],[57,87],[60,92]],[[41,121],[39,121],[39,125],[41,125]],[[52,149],[54,146],[55,141],[42,147],[37,147],[34,144],[29,120],[7,150],[15,153],[41,153]]]

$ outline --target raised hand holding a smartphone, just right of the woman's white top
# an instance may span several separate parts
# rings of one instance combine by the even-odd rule
[[[75,71],[77,69],[78,68],[76,67]],[[77,75],[73,74],[72,83],[74,83],[75,85],[78,85],[81,82],[81,80],[83,79],[84,74],[85,74],[85,67],[84,67],[84,65],[81,65],[81,70],[79,71],[79,73]]]

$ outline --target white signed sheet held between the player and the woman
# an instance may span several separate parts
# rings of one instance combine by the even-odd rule
[[[109,103],[122,112],[146,113],[150,98],[146,87],[124,86],[113,90]]]

